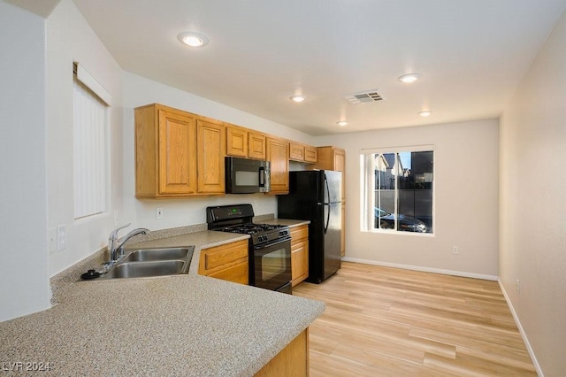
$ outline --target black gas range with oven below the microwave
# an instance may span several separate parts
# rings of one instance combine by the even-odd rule
[[[249,235],[249,285],[291,293],[291,232],[283,225],[255,224],[251,204],[207,207],[210,230]]]

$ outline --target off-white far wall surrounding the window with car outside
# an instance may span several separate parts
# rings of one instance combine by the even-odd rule
[[[346,150],[346,257],[495,279],[498,245],[496,119],[317,138]],[[434,146],[434,235],[361,231],[360,151]],[[459,255],[452,254],[457,246]]]

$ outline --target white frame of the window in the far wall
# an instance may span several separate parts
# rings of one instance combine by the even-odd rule
[[[395,158],[398,153],[403,152],[424,152],[424,151],[432,151],[433,152],[433,161],[436,159],[436,151],[434,150],[434,145],[432,144],[425,144],[425,145],[409,145],[409,146],[398,146],[398,147],[391,147],[391,148],[375,148],[375,149],[366,149],[360,150],[360,231],[362,232],[371,232],[371,233],[385,233],[385,234],[393,234],[393,235],[418,235],[418,236],[433,236],[436,232],[435,227],[435,207],[436,207],[436,188],[434,176],[436,175],[436,168],[432,172],[432,233],[417,233],[417,232],[405,232],[400,231],[397,229],[398,222],[395,221],[394,229],[381,229],[374,227],[375,221],[375,212],[373,208],[375,207],[375,169],[376,163],[375,158],[373,156],[377,153],[379,154],[386,154],[386,153],[394,153]],[[397,161],[395,160],[395,165]],[[434,164],[436,165],[436,164]],[[398,168],[398,167],[397,167]],[[394,192],[394,210],[395,213],[398,213],[398,199],[399,199],[399,190],[397,189],[397,174],[395,174],[395,192]],[[378,205],[379,208],[381,206]]]

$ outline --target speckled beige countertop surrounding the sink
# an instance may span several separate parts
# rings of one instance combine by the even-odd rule
[[[0,323],[3,372],[29,362],[53,375],[253,375],[325,304],[196,273],[200,250],[246,238],[204,230],[131,246],[195,245],[187,275],[76,281],[100,257],[74,265],[52,279],[50,310]]]

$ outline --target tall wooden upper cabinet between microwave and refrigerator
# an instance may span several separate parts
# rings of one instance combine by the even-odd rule
[[[271,162],[272,188],[268,194],[289,193],[289,142],[268,136],[266,138],[267,160]]]

